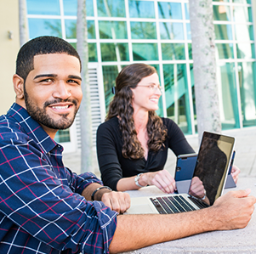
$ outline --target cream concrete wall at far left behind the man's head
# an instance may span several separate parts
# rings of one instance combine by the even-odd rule
[[[12,76],[20,49],[18,3],[18,0],[0,1],[0,115],[6,113],[15,99]]]

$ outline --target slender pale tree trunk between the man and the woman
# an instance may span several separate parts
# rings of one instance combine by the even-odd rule
[[[81,172],[94,171],[90,86],[88,82],[88,30],[86,0],[77,0],[77,52],[82,61]]]

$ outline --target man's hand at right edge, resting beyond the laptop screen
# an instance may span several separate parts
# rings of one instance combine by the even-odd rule
[[[242,229],[250,221],[256,198],[250,189],[230,191],[219,197],[209,209],[217,209],[215,221],[219,230]]]

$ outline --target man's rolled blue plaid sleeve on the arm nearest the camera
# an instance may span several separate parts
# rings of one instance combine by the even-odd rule
[[[0,161],[0,211],[20,230],[56,250],[108,253],[117,212],[78,194],[90,179],[77,180],[72,192],[30,141],[1,140]]]

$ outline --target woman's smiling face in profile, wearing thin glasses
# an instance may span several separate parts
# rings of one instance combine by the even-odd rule
[[[135,88],[131,88],[134,110],[158,110],[158,100],[161,96],[159,78],[156,73],[145,76]]]

